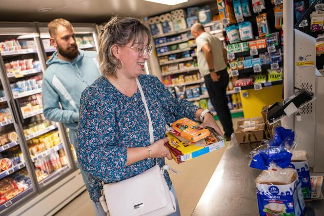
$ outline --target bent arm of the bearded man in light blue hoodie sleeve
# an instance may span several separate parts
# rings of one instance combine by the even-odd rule
[[[79,122],[79,112],[61,109],[59,95],[47,79],[43,79],[41,93],[45,118],[63,123]]]

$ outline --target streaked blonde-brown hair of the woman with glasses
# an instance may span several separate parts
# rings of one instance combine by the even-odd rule
[[[141,20],[131,17],[115,16],[103,27],[99,35],[98,61],[102,75],[114,75],[119,68],[120,60],[112,53],[113,45],[125,45],[132,41],[143,44],[145,39],[150,44],[150,30]]]

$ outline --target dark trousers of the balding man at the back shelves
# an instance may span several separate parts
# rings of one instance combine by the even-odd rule
[[[210,75],[204,77],[206,88],[217,116],[220,119],[223,129],[225,132],[225,137],[231,137],[233,130],[233,122],[231,113],[227,106],[228,100],[226,97],[226,88],[229,81],[229,76],[226,69],[218,72],[221,75],[221,78],[218,82],[214,82]]]

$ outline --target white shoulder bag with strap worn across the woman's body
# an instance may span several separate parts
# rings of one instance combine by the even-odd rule
[[[142,86],[136,78],[149,121],[150,143],[154,142],[153,127]],[[176,202],[163,176],[168,164],[158,163],[141,174],[119,182],[104,184],[100,202],[111,216],[167,216],[176,212]],[[173,169],[171,169],[174,171]],[[174,171],[178,173],[177,171]]]

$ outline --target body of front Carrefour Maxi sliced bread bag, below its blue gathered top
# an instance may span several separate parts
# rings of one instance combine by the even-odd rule
[[[256,178],[260,216],[302,216],[305,203],[297,171],[263,170]]]

